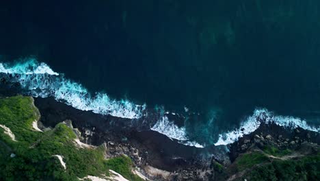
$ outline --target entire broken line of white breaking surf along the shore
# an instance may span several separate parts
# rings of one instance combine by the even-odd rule
[[[53,71],[47,64],[37,62],[35,58],[27,58],[16,64],[0,62],[0,77],[4,77],[5,81],[18,82],[28,95],[43,98],[54,97],[57,101],[64,102],[79,110],[90,110],[98,114],[110,114],[114,117],[127,119],[139,119],[146,112],[146,104],[137,105],[129,100],[111,99],[105,93],[92,95],[81,84],[68,80],[64,74]],[[189,109],[185,108],[185,112],[188,111]],[[185,126],[179,127],[174,124],[174,121],[168,119],[166,114],[170,112],[165,112],[163,108],[157,112],[160,113],[160,117],[150,130],[164,134],[184,145],[204,147],[204,145],[189,139]],[[171,114],[176,115],[176,113]],[[188,112],[188,114],[192,113]],[[211,122],[209,121],[209,124]],[[243,135],[254,132],[261,123],[271,122],[290,129],[299,127],[304,130],[320,132],[320,127],[308,125],[302,119],[279,116],[266,109],[257,109],[241,123],[240,128],[219,134],[214,145],[234,143]]]

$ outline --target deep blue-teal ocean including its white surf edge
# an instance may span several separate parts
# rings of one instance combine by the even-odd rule
[[[181,143],[320,130],[318,1],[3,1],[0,73],[26,94],[139,119]],[[4,76],[4,75],[3,75]],[[173,115],[173,116],[172,116]],[[245,128],[244,130],[242,128]]]

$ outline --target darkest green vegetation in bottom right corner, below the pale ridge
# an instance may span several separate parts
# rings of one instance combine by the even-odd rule
[[[320,180],[320,156],[274,160],[248,173],[248,180]]]

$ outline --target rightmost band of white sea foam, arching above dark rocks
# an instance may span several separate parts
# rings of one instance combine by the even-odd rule
[[[215,145],[228,145],[230,143],[234,143],[243,135],[250,134],[258,129],[262,121],[264,123],[271,123],[273,121],[277,125],[290,129],[299,127],[303,128],[304,130],[320,132],[320,127],[308,125],[305,120],[296,117],[278,116],[273,112],[269,112],[267,109],[257,109],[254,110],[254,114],[252,114],[252,116],[248,117],[248,119],[241,123],[240,128],[224,134],[219,134],[219,139]]]

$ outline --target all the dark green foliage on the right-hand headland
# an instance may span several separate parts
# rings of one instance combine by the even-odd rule
[[[311,154],[296,158],[285,156],[292,150],[279,150],[275,147],[265,147],[264,152],[251,152],[239,156],[236,160],[237,171],[244,171],[241,178],[247,180],[320,180],[320,155]]]

